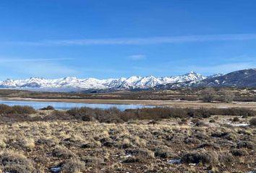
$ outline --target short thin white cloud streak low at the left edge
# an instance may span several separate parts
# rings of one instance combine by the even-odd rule
[[[0,58],[0,63],[66,61],[71,58]]]

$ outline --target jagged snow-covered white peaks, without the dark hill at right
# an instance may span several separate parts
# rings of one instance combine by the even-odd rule
[[[176,84],[186,81],[202,81],[207,77],[191,71],[181,76],[155,77],[155,76],[131,76],[119,79],[78,79],[65,77],[61,79],[30,78],[23,80],[7,79],[0,81],[0,88],[12,89],[38,89],[38,90],[99,90],[99,89],[148,89],[158,85]]]

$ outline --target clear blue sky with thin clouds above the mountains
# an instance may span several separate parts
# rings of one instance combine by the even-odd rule
[[[0,79],[256,67],[254,0],[2,0]]]

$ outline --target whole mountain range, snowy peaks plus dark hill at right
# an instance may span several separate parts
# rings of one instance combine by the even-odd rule
[[[55,92],[79,92],[79,91],[109,91],[121,89],[172,89],[182,87],[205,86],[235,86],[255,87],[256,69],[234,71],[229,74],[215,74],[202,76],[194,71],[180,76],[130,76],[119,79],[78,79],[65,77],[61,79],[43,79],[31,77],[30,79],[0,81],[1,89],[27,89]]]

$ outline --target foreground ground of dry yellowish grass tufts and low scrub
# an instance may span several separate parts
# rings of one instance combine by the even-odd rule
[[[52,114],[40,110],[30,116]],[[0,167],[2,172],[253,172],[252,118],[3,122]]]

